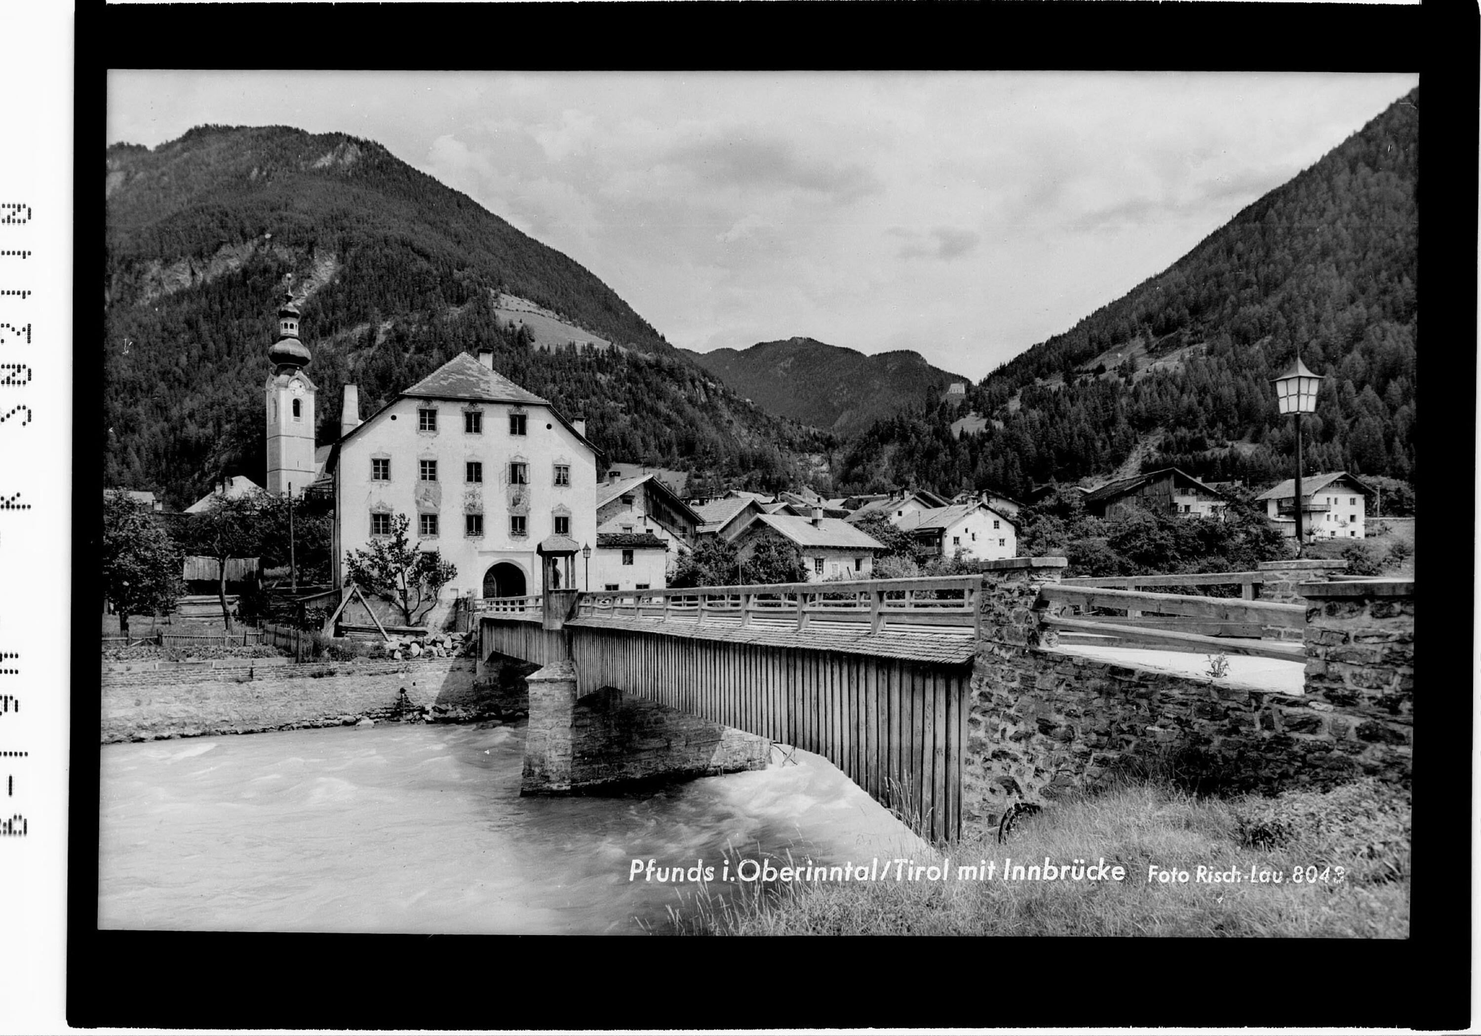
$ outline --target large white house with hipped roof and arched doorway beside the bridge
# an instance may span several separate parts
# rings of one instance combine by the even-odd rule
[[[345,554],[388,537],[397,515],[458,568],[429,623],[459,595],[539,593],[536,546],[546,537],[597,542],[600,453],[585,422],[495,371],[492,351],[453,357],[364,422],[357,406],[345,386],[327,462],[336,585]]]

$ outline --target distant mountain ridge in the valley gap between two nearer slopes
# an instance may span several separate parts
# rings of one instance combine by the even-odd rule
[[[906,404],[920,406],[927,395],[939,397],[951,382],[970,383],[909,349],[865,355],[810,337],[681,352],[763,410],[840,437],[857,434]]]

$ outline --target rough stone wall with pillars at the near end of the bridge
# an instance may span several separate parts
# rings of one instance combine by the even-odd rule
[[[1203,790],[1325,787],[1363,774],[1408,783],[1411,583],[1296,585],[1311,607],[1306,693],[1293,696],[1059,653],[1037,596],[1063,561],[998,564],[983,574],[969,703],[969,830],[1016,801],[1052,802],[1117,771]]]

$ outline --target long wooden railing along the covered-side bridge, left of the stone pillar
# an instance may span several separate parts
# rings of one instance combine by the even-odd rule
[[[840,583],[763,583],[656,591],[588,591],[576,617],[732,622],[788,620],[807,629],[815,619],[976,629],[980,576],[866,579]]]

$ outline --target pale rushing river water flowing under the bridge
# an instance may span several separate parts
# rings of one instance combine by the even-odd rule
[[[524,730],[381,724],[102,746],[101,928],[638,932],[690,884],[632,860],[927,850],[825,759],[520,798]],[[715,885],[712,885],[715,888]]]

